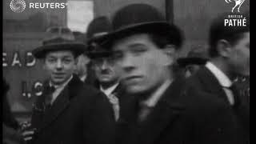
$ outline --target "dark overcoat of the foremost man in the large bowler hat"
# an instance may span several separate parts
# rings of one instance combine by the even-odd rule
[[[122,96],[121,116],[117,124],[118,144],[167,144],[173,143],[173,125],[184,106],[179,102],[182,79],[174,81],[151,110],[146,120],[138,122],[138,98]]]

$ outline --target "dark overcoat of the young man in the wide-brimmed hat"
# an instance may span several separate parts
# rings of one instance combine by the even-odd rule
[[[32,127],[35,144],[112,144],[114,114],[106,96],[77,76],[67,84],[50,109],[44,94],[35,103]]]

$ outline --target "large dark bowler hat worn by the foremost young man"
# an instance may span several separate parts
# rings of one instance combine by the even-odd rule
[[[168,36],[170,42],[177,47],[182,45],[182,32],[178,26],[167,22],[156,8],[147,4],[124,6],[114,14],[112,26],[113,30],[109,34],[95,41],[103,45],[130,33],[156,33]]]

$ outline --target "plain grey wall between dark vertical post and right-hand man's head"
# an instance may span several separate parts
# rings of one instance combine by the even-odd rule
[[[234,2],[225,0],[174,0],[174,23],[182,28],[186,36],[183,54],[191,48],[202,46],[207,48],[208,30],[212,18],[224,12],[230,12]],[[250,10],[250,0],[246,0],[241,12]]]

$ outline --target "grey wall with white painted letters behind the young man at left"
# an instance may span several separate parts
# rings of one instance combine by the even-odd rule
[[[8,100],[15,116],[30,118],[35,98],[42,90],[40,62],[31,50],[41,46],[44,32],[49,26],[66,26],[66,9],[28,9],[29,2],[66,2],[66,0],[25,0],[22,13],[10,10],[10,0],[3,0],[3,77],[10,84]]]

